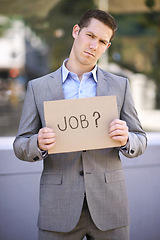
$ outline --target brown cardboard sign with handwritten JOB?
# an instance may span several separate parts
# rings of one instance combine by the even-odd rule
[[[44,114],[46,126],[56,133],[49,154],[120,146],[108,135],[118,118],[116,96],[45,101]]]

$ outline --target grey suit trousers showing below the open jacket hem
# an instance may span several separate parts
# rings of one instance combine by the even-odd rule
[[[84,238],[86,237],[86,238]],[[76,227],[70,232],[51,232],[39,229],[39,240],[129,240],[129,226],[101,231],[94,224],[84,198],[81,217]]]

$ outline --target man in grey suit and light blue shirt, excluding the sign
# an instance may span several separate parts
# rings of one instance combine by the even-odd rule
[[[44,160],[39,240],[80,240],[84,236],[93,240],[129,239],[119,151],[129,158],[139,156],[145,150],[146,135],[128,80],[97,67],[116,29],[115,20],[108,13],[87,11],[73,27],[69,59],[56,72],[28,84],[14,150],[24,161]],[[119,141],[121,147],[48,155],[47,151],[58,142],[54,129],[45,127],[43,102],[105,95],[117,96],[119,119],[111,122],[106,134]]]

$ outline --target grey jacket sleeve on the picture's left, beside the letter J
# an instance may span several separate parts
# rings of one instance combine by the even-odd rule
[[[41,120],[36,106],[32,81],[30,81],[27,87],[19,130],[13,143],[15,155],[19,159],[29,162],[43,159],[37,145],[40,128]]]

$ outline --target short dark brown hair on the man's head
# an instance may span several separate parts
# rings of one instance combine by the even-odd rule
[[[111,36],[110,41],[114,38],[115,33],[117,31],[117,24],[115,19],[107,12],[99,10],[99,9],[94,9],[94,10],[88,10],[84,13],[84,15],[81,17],[80,22],[79,22],[79,27],[80,29],[87,27],[90,23],[90,20],[92,18],[95,18],[101,22],[103,22],[106,26],[112,29],[113,34]]]

